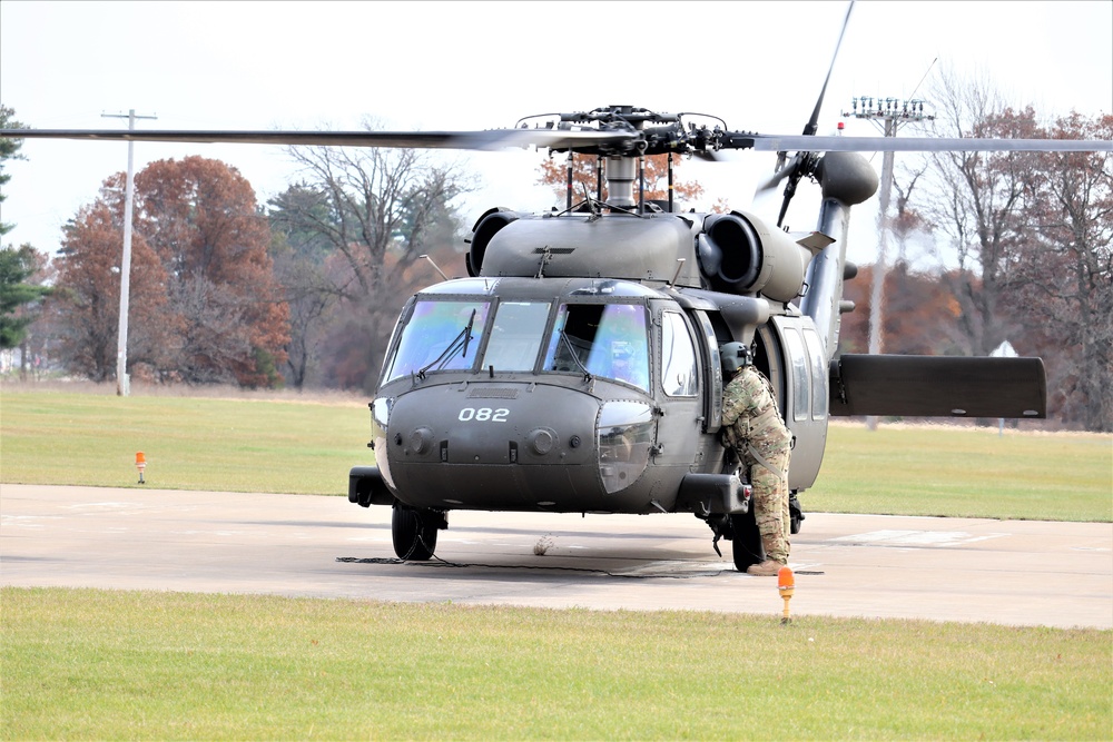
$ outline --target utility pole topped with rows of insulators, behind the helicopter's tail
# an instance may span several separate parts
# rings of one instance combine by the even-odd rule
[[[903,123],[930,121],[935,117],[924,113],[923,100],[899,100],[897,98],[861,97],[853,100],[853,111],[844,111],[843,116],[858,119],[870,119],[875,123],[881,121],[886,137],[896,137],[897,128]],[[893,151],[883,154],[881,189],[878,194],[879,212],[877,227],[879,233],[877,263],[873,270],[873,285],[869,290],[869,353],[881,352],[881,303],[885,300],[885,273],[887,270],[889,243],[889,196],[893,192]],[[877,417],[866,417],[866,426],[877,429]]]

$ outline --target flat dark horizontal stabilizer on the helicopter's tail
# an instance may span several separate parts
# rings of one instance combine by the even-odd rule
[[[834,416],[1047,416],[1040,358],[844,355],[830,382]]]

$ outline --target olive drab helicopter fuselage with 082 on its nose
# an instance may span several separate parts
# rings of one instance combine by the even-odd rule
[[[798,405],[791,389],[781,395],[805,409],[798,435],[815,438],[828,392],[826,373],[811,376],[826,360],[789,299],[818,249],[743,212],[487,212],[469,254],[477,275],[420,291],[401,314],[371,404],[377,466],[353,472],[353,499],[439,512],[743,512],[737,462],[718,436],[718,349],[752,344],[782,386],[804,374]],[[768,261],[780,266],[776,280]],[[814,478],[806,462],[795,488]]]

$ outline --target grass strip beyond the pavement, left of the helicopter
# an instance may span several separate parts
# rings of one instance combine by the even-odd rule
[[[374,463],[366,402],[0,393],[0,481],[347,495],[348,468]]]

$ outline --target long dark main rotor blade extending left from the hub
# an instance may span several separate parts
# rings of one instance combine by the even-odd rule
[[[9,139],[95,139],[185,144],[285,145],[315,147],[397,147],[404,149],[495,150],[607,146],[621,149],[636,136],[621,131],[491,129],[487,131],[223,131],[174,129],[0,129]]]

